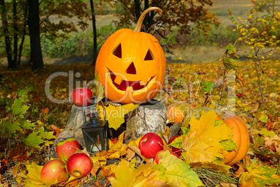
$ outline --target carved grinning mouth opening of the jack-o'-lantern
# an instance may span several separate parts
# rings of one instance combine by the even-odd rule
[[[155,77],[155,75],[153,77],[150,77],[150,79],[148,79],[147,84],[144,84],[144,85],[141,85],[140,81],[129,81],[129,80],[121,80],[120,84],[117,84],[116,82],[114,82],[116,79],[116,75],[113,72],[111,72],[111,70],[109,70],[109,73],[110,73],[111,80],[112,80],[113,84],[115,85],[115,87],[122,91],[125,91],[127,89],[127,87],[132,87],[133,91],[143,89],[143,88],[147,87],[148,83],[151,80],[153,80],[153,78]]]

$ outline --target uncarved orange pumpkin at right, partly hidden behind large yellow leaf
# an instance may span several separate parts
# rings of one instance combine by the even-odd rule
[[[200,118],[201,111],[208,112],[212,110],[208,107],[200,107],[192,111],[191,117],[196,117],[196,119]],[[247,154],[249,149],[249,133],[247,130],[247,126],[244,121],[240,118],[232,114],[231,112],[222,112],[216,110],[217,118],[216,120],[223,120],[226,123],[226,126],[231,128],[231,140],[235,142],[237,149],[233,151],[228,151],[228,154],[224,155],[224,163],[226,165],[233,165],[234,163],[238,163],[242,158]],[[189,117],[189,119],[191,118]],[[182,126],[187,127],[188,121],[184,120]]]

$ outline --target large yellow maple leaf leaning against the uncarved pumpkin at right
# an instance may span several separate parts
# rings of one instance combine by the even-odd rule
[[[192,118],[189,121],[190,130],[182,135],[181,148],[183,158],[189,163],[212,163],[218,158],[224,158],[222,140],[231,138],[231,128],[221,121],[215,120],[215,110],[202,112],[199,120]]]

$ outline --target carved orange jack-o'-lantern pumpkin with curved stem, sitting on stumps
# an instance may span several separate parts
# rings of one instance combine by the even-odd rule
[[[146,103],[160,91],[166,73],[166,59],[158,40],[141,32],[145,15],[162,10],[145,10],[135,29],[120,29],[102,45],[95,65],[104,95],[118,103]]]

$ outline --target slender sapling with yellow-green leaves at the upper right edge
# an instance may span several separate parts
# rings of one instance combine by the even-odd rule
[[[265,102],[262,88],[265,75],[263,64],[275,59],[274,54],[277,55],[279,51],[279,20],[274,17],[277,14],[274,0],[256,1],[251,9],[251,14],[245,19],[242,17],[236,19],[231,13],[231,20],[236,25],[236,29],[233,31],[240,34],[238,43],[240,46],[246,45],[249,48],[248,51],[245,51],[245,54],[250,61],[255,63],[262,104]]]

